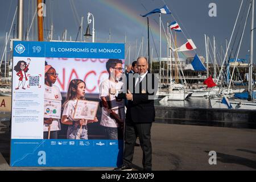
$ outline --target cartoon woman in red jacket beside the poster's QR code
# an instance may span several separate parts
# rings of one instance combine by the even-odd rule
[[[27,79],[27,71],[28,71],[28,65],[30,65],[30,59],[28,58],[27,59],[29,62],[28,64],[26,63],[26,61],[18,61],[18,63],[15,65],[14,67],[14,70],[17,72],[17,76],[19,77],[19,84],[18,84],[18,87],[15,88],[16,90],[19,89],[19,86],[22,84],[22,89],[25,89],[24,86],[25,86],[25,83],[26,81],[28,80]]]

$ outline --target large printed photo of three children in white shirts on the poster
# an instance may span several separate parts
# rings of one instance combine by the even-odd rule
[[[44,93],[44,139],[93,139],[90,135],[93,135],[96,139],[122,139],[123,131],[121,127],[123,127],[125,118],[124,102],[116,101],[114,95],[110,94],[108,88],[102,88],[102,86],[105,86],[102,82],[108,82],[109,84],[113,82],[108,78],[109,76],[107,74],[109,73],[109,68],[107,68],[107,64],[110,63],[114,65],[116,60],[62,58],[58,60],[59,61],[48,58],[45,65],[44,86],[46,91]],[[71,61],[68,62],[69,60]],[[76,61],[76,63],[81,60],[81,62],[79,61],[81,67],[74,67],[72,60]],[[64,63],[64,65],[62,63]],[[97,68],[94,68],[93,71],[88,70],[86,73],[86,69],[88,69],[86,65],[88,64],[92,65],[92,67],[90,67],[91,69],[94,64],[96,64]],[[121,74],[123,60],[118,60],[118,66],[121,68],[119,71],[119,74]],[[63,70],[63,72],[61,72],[61,70]],[[65,78],[80,78],[80,75],[81,79],[73,79],[66,84]],[[99,75],[100,77],[95,79],[93,75]],[[82,80],[83,77],[88,84]],[[64,80],[61,80],[61,78],[64,78]],[[115,85],[115,81],[112,84]],[[118,92],[121,87],[122,82],[120,81],[116,86],[112,85],[111,89],[114,89],[114,92]],[[100,100],[85,99],[86,93],[92,94],[97,92],[100,94]],[[108,92],[106,96],[105,92]],[[105,96],[105,99],[111,103],[108,109],[106,109],[106,107],[103,109],[102,107],[99,107],[103,96]],[[49,104],[49,102],[51,102],[51,104]],[[62,106],[60,106],[60,103],[62,103]],[[61,115],[59,115],[60,110]],[[98,122],[96,116],[98,110],[103,110],[104,112],[103,115],[98,115],[100,122]],[[50,114],[52,117],[49,117]],[[108,122],[105,122],[106,119],[109,119],[109,124],[107,124]],[[113,124],[110,124],[110,121],[113,122]],[[90,129],[92,129],[91,133]],[[110,137],[109,133],[112,133],[113,131],[116,133],[115,137]]]

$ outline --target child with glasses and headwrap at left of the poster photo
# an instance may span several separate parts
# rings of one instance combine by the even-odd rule
[[[51,65],[47,65],[46,63],[46,66],[44,67],[44,88],[46,89],[44,91],[44,101],[57,101],[55,106],[60,108],[56,110],[61,110],[62,97],[60,94],[60,89],[56,85],[53,85],[56,82],[57,76],[58,73],[56,73],[56,70]],[[57,132],[61,130],[60,116],[52,115],[48,117],[47,114],[51,111],[48,107],[44,109],[44,139],[57,139]]]

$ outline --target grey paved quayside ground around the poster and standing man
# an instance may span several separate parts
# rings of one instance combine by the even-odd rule
[[[224,127],[152,126],[154,170],[256,170],[256,130]],[[112,170],[113,168],[10,167],[8,122],[0,122],[1,170]],[[209,151],[217,152],[217,164],[209,165]],[[134,170],[142,169],[142,151],[135,147]]]

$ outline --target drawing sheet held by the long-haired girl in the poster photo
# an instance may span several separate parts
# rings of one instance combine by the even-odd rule
[[[74,119],[89,119],[93,120],[96,117],[98,110],[98,102],[77,100]]]

